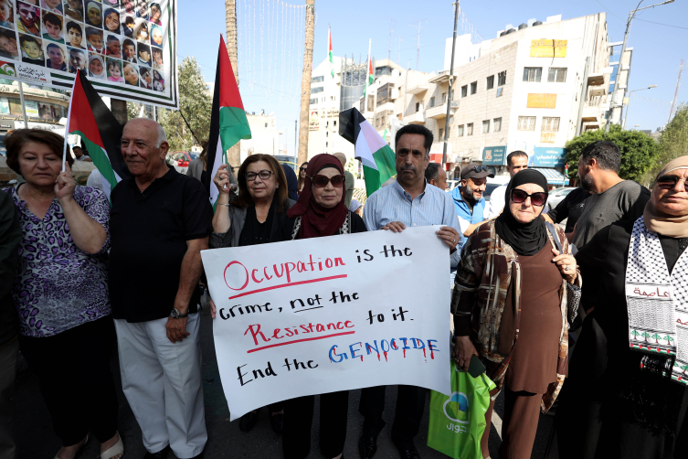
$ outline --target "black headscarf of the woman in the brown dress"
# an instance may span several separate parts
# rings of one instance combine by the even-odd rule
[[[518,174],[513,176],[509,186],[506,187],[504,195],[504,210],[494,222],[494,229],[499,234],[499,237],[507,244],[512,246],[513,250],[519,255],[535,255],[543,250],[547,243],[547,228],[545,227],[545,220],[540,216],[536,217],[530,223],[521,223],[513,218],[511,208],[509,206],[512,197],[512,190],[515,187],[520,187],[526,183],[533,183],[543,188],[547,192],[547,179],[542,173],[535,169],[523,169]]]

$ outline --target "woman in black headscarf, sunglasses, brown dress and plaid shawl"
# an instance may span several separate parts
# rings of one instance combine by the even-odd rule
[[[485,413],[483,457],[490,455],[500,390],[500,457],[530,458],[540,411],[552,406],[566,375],[568,323],[577,313],[581,280],[564,231],[540,218],[546,190],[545,176],[535,169],[513,176],[502,214],[471,235],[456,273],[454,358],[468,369],[477,356],[497,385]]]

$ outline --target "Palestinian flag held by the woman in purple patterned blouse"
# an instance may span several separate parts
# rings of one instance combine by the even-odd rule
[[[110,199],[111,189],[122,178],[132,176],[120,150],[123,126],[80,70],[74,79],[67,120],[65,131],[81,137],[102,176],[103,191]]]

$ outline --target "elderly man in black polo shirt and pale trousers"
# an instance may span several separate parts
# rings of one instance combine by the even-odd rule
[[[122,389],[147,458],[196,457],[207,433],[196,285],[213,209],[192,176],[165,164],[164,130],[139,118],[124,126],[132,172],[112,189],[110,296]]]

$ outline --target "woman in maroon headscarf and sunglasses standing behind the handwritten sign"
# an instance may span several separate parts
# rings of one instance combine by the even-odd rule
[[[315,155],[306,168],[305,185],[287,215],[285,240],[321,238],[365,231],[363,219],[344,205],[344,167],[333,155]],[[314,395],[284,402],[285,459],[304,459],[311,452]],[[344,458],[349,391],[320,395],[320,449],[329,459]]]

